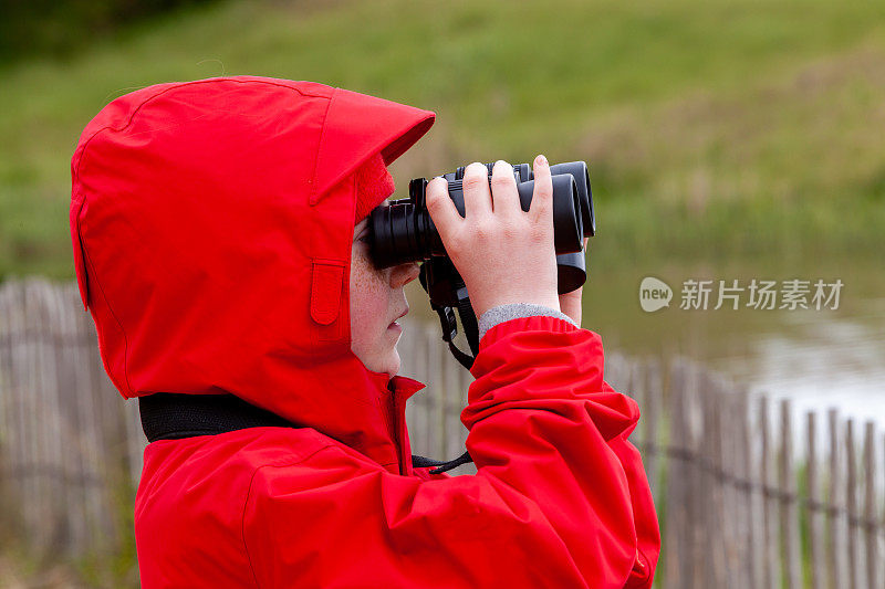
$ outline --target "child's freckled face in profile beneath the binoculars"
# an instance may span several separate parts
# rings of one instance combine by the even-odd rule
[[[376,270],[368,256],[368,218],[353,231],[351,249],[351,350],[373,372],[399,371],[396,343],[403,328],[394,324],[408,311],[403,286],[418,276],[415,262]]]

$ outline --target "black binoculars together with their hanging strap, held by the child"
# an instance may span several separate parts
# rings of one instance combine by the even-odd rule
[[[486,164],[489,179],[493,164]],[[464,172],[444,173],[448,194],[456,209],[465,215]],[[583,238],[596,232],[590,173],[584,161],[555,164],[550,167],[553,180],[553,245],[556,252],[558,288],[560,294],[574,291],[586,281]],[[534,175],[528,164],[513,166],[520,206],[528,211],[534,191]],[[442,339],[455,357],[468,369],[473,358],[454,344],[458,309],[470,349],[479,351],[477,317],[470,306],[464,280],[452,264],[439,232],[427,211],[425,178],[408,185],[408,198],[394,200],[389,206],[375,208],[369,215],[369,252],[376,267],[384,269],[407,262],[420,262],[420,284],[430,297],[442,326]],[[518,261],[517,261],[518,263]]]

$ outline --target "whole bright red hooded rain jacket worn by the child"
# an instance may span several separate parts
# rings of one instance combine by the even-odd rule
[[[553,317],[489,329],[465,476],[413,469],[405,407],[423,385],[350,350],[352,173],[433,120],[226,77],[127,94],[83,132],[74,263],[116,388],[232,393],[303,425],[147,446],[145,588],[650,586],[638,410],[603,381],[596,334]]]

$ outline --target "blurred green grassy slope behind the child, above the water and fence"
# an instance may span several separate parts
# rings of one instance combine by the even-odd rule
[[[400,187],[472,160],[586,159],[597,267],[885,246],[881,2],[239,1],[0,70],[0,277],[72,275],[70,157],[102,106],[233,74],[436,111]]]

